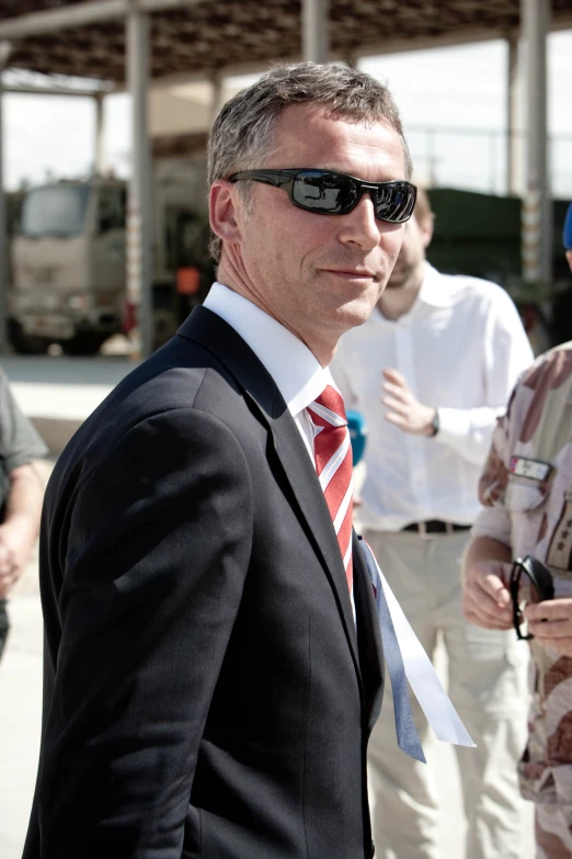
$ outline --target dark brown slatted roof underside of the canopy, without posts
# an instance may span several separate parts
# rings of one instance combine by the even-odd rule
[[[310,3],[311,5],[311,3]],[[0,0],[10,66],[126,81],[125,16],[150,13],[150,77],[264,68],[302,53],[296,0]],[[520,32],[520,0],[330,0],[330,57],[353,59]],[[572,27],[570,0],[552,0],[551,29]]]

